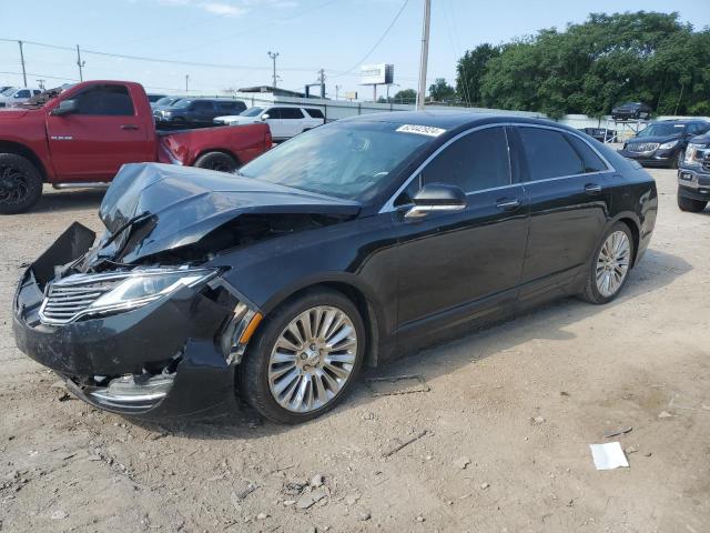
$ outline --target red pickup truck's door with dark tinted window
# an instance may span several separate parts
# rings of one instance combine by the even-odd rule
[[[109,181],[123,163],[154,160],[149,131],[125,86],[91,86],[71,100],[78,103],[77,112],[47,118],[59,180]]]

